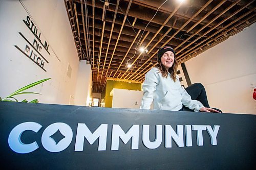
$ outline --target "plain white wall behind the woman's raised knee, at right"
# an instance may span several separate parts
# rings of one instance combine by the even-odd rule
[[[185,62],[191,83],[201,82],[211,107],[256,114],[256,24]]]

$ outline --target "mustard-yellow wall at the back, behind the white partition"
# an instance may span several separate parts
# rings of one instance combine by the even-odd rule
[[[108,80],[106,81],[105,88],[106,88],[105,89],[105,107],[112,107],[112,96],[110,96],[110,92],[113,88],[127,89],[127,90],[141,90],[141,84]],[[125,99],[125,96],[123,97]]]

